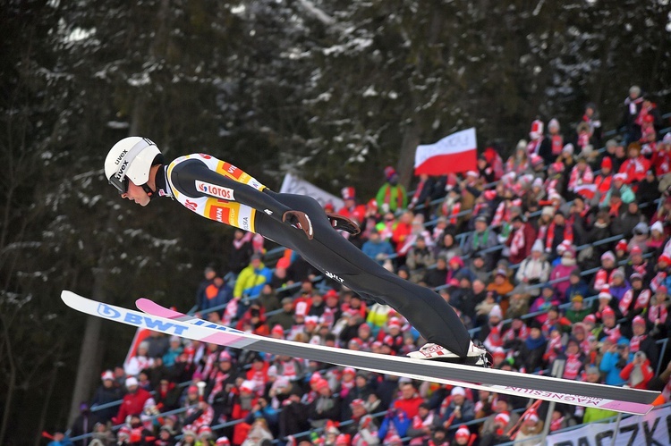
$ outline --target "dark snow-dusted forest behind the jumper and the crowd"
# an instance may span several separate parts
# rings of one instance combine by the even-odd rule
[[[273,189],[285,173],[370,197],[418,143],[475,126],[508,155],[531,121],[616,128],[631,85],[667,111],[662,0],[0,2],[0,443],[39,444],[133,332],[60,291],[191,307],[231,231],[106,184],[116,140],[195,151]],[[362,181],[361,179],[367,179]]]

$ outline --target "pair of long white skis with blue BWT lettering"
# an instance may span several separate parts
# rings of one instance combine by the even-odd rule
[[[394,357],[268,338],[183,315],[149,299],[136,301],[137,307],[142,312],[86,299],[67,290],[62,292],[61,299],[67,306],[91,316],[129,324],[136,328],[177,335],[193,341],[305,358],[379,374],[393,374],[414,380],[458,385],[473,390],[556,401],[587,408],[602,408],[634,415],[647,414],[653,408],[652,403],[659,396],[659,393],[655,391],[641,391],[536,374],[520,374],[479,366]]]

